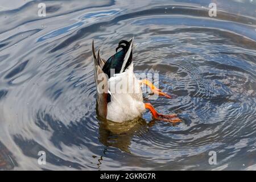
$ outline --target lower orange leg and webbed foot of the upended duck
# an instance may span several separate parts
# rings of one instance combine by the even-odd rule
[[[150,103],[145,103],[144,106],[146,109],[149,109],[151,111],[151,114],[154,119],[162,120],[165,122],[171,122],[174,124],[177,122],[181,122],[181,119],[177,117],[177,114],[168,114],[168,115],[160,114],[155,110],[155,108]]]

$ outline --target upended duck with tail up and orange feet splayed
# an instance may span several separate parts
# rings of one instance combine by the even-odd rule
[[[181,122],[176,114],[159,114],[150,103],[143,103],[142,84],[147,85],[154,94],[167,98],[171,96],[146,79],[137,80],[133,72],[133,39],[129,42],[121,40],[115,49],[116,53],[107,61],[101,59],[100,49],[96,57],[94,42],[92,51],[97,86],[97,111],[101,117],[114,122],[124,122],[141,117],[141,114],[149,109],[154,119]]]

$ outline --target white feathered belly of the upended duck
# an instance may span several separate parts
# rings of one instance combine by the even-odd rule
[[[123,122],[141,116],[145,107],[141,84],[133,73],[133,64],[125,72],[111,77],[108,85],[111,102],[108,103],[107,119]]]

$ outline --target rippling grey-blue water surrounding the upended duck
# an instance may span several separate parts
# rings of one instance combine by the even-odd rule
[[[0,169],[255,170],[255,10],[254,0],[2,0]],[[97,117],[92,39],[108,59],[132,36],[135,72],[158,73],[178,96],[149,101],[182,123]]]

